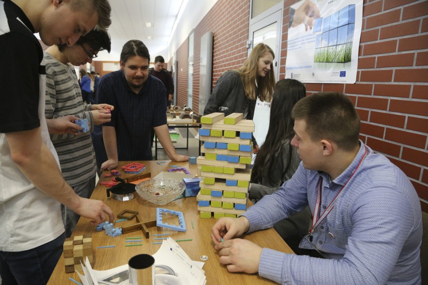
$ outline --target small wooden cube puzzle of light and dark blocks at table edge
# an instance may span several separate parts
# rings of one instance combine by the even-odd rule
[[[80,261],[84,263],[86,256],[93,266],[92,237],[88,235],[78,235],[68,237],[64,241],[64,265],[65,272],[71,273],[75,270],[83,272]]]

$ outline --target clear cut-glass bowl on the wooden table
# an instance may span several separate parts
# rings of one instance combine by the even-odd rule
[[[156,205],[165,205],[183,194],[186,185],[170,178],[153,178],[139,183],[135,190],[146,201]]]

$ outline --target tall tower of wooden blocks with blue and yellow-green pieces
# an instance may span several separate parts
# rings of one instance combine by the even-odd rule
[[[247,208],[253,153],[252,120],[242,113],[211,113],[201,117],[199,139],[204,141],[197,158],[203,177],[197,195],[201,218],[237,217]]]

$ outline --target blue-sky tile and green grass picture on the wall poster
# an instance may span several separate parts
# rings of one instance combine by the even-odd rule
[[[350,62],[355,28],[355,5],[315,20],[313,62]]]

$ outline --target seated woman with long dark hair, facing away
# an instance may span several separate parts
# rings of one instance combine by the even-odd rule
[[[297,150],[290,144],[294,136],[291,110],[305,95],[306,88],[297,80],[282,79],[275,85],[270,107],[269,130],[251,172],[248,195],[253,203],[278,190],[285,181],[291,179],[299,167],[301,160]],[[298,243],[307,233],[310,219],[311,213],[309,207],[306,207],[277,222],[274,228],[291,249],[298,253]]]

